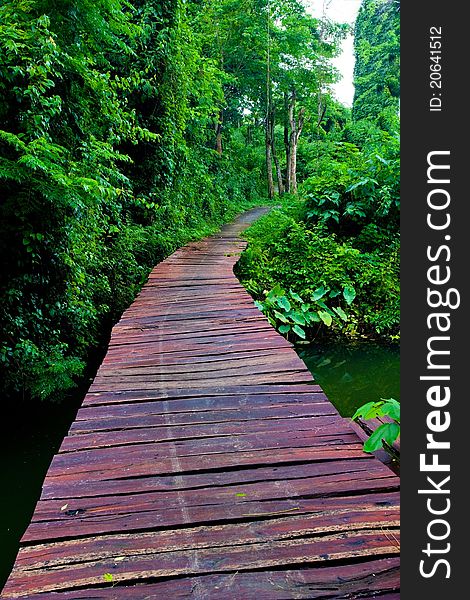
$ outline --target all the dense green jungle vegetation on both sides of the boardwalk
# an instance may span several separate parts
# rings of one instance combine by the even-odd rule
[[[151,267],[272,201],[239,273],[281,332],[398,333],[399,3],[4,0],[0,376],[72,388]]]

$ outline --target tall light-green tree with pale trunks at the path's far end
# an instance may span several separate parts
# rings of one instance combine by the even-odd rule
[[[204,39],[204,54],[221,72],[224,99],[214,111],[216,143],[221,152],[227,129],[247,114],[264,124],[268,196],[297,189],[296,157],[307,117],[306,104],[321,98],[335,79],[329,58],[338,49],[344,27],[321,24],[300,0],[195,0],[194,21]],[[279,102],[286,98],[286,103]],[[276,149],[276,119],[286,124],[286,173]]]

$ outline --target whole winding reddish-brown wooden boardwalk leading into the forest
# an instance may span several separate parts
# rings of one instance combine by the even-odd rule
[[[159,264],[54,457],[4,598],[398,598],[398,478],[233,274]]]

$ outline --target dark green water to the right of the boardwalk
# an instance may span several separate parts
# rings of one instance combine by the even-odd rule
[[[400,400],[400,351],[371,341],[315,344],[297,349],[343,417],[366,402]]]

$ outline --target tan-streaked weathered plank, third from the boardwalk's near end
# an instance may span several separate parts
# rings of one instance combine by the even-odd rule
[[[134,556],[156,551],[256,544],[267,540],[300,539],[366,528],[379,531],[384,524],[389,529],[395,529],[397,523],[396,506],[357,507],[349,512],[341,510],[310,515],[275,515],[271,519],[149,531],[138,536],[129,533],[104,534],[99,537],[78,537],[35,544],[20,550],[17,564],[22,569],[28,569],[61,566],[67,561],[79,563],[86,560],[113,560],[117,556],[132,559]]]

